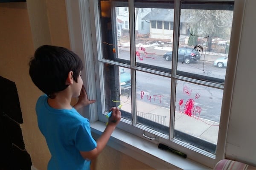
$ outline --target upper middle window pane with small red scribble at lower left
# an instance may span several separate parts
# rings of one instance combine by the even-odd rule
[[[134,6],[135,22],[145,21],[144,29],[135,31],[136,64],[157,71],[171,72],[172,63],[166,60],[172,59],[169,51],[172,51],[173,30],[169,29],[169,22],[174,19],[173,3],[135,1]],[[142,7],[143,12],[139,10]]]

